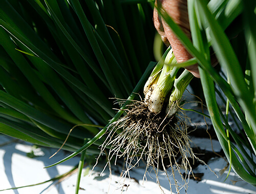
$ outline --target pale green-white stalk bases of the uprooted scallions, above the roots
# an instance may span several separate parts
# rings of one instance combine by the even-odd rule
[[[182,94],[193,76],[187,70],[185,70],[181,76],[176,79],[177,73],[180,69],[180,67],[178,65],[176,66],[176,64],[177,61],[173,54],[173,50],[170,50],[165,57],[160,75],[158,73],[156,79],[149,89],[148,85],[145,85],[147,87],[146,92],[144,90],[145,103],[150,111],[154,113],[161,112],[163,107],[166,107],[164,106],[164,103],[168,98],[170,98],[165,112],[167,113],[168,117],[177,112]]]

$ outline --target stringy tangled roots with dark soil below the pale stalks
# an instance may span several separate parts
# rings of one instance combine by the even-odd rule
[[[110,166],[112,159],[116,165],[118,158],[124,158],[122,176],[130,177],[129,171],[133,167],[138,167],[139,162],[143,160],[146,163],[143,180],[152,166],[160,188],[158,173],[164,172],[170,189],[175,185],[177,193],[183,187],[186,190],[192,172],[190,162],[199,160],[190,148],[186,117],[176,114],[172,118],[167,118],[163,113],[151,112],[145,103],[139,101],[132,102],[125,112],[125,116],[109,127],[108,136],[102,144],[101,153],[106,147],[110,147],[106,166]],[[176,181],[177,172],[182,182]],[[169,179],[171,176],[173,181]]]

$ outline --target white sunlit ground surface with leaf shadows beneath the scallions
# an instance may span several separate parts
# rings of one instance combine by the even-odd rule
[[[193,103],[189,105],[194,106]],[[194,107],[195,108],[195,107]],[[188,183],[188,194],[210,194],[210,193],[224,193],[224,194],[242,194],[253,193],[256,194],[256,188],[242,181],[232,171],[228,179],[224,182],[227,171],[220,174],[220,171],[227,166],[227,162],[218,157],[212,152],[211,141],[207,133],[205,133],[206,125],[203,117],[198,114],[188,112],[188,117],[191,118],[191,129],[197,130],[191,132],[191,145],[194,148],[200,148],[203,150],[205,159],[209,159],[207,162],[209,167],[205,165],[199,165],[194,169],[194,173],[198,173],[197,178],[199,180],[190,179]],[[221,147],[214,137],[214,131],[211,128],[209,120],[206,120],[208,124],[209,132],[212,133],[212,147],[215,152],[221,154]],[[232,125],[232,123],[230,123]],[[28,157],[28,153],[34,153],[34,158]],[[52,159],[49,157],[56,152],[56,149],[49,148],[35,148],[32,144],[24,141],[15,141],[12,138],[0,135],[0,190],[10,187],[18,187],[29,184],[36,184],[49,180],[59,174],[68,172],[75,164],[78,163],[79,158],[75,157],[60,165],[44,168],[44,166],[50,165],[63,157],[66,157],[70,153],[61,151]],[[32,155],[33,156],[33,155]],[[100,193],[145,193],[145,194],[157,194],[161,193],[159,186],[156,184],[155,173],[147,174],[147,181],[143,181],[144,167],[143,164],[130,172],[131,179],[122,180],[120,178],[120,172],[122,168],[120,166],[112,167],[112,176],[110,176],[109,169],[106,169],[102,176],[100,173],[104,163],[99,163],[94,171],[89,176],[92,166],[86,165],[83,169],[80,191],[79,193],[87,194],[100,194]],[[214,171],[212,173],[210,171]],[[203,176],[202,176],[203,175]],[[179,175],[176,175],[178,181],[181,181]],[[164,193],[170,193],[169,183],[164,174],[159,175],[160,184]],[[171,178],[173,181],[173,179]],[[76,174],[68,177],[62,182],[48,182],[38,186],[20,188],[17,190],[1,191],[0,194],[70,194],[75,192]],[[176,193],[175,186],[172,187],[173,193]],[[185,193],[184,189],[181,189],[180,193]]]

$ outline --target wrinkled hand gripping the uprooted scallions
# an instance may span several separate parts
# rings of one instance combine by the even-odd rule
[[[174,19],[187,37],[191,39],[187,13],[187,0],[156,0],[156,6],[157,5],[162,5],[162,8],[167,12],[167,14]],[[173,47],[174,55],[178,63],[192,58],[180,40],[168,27],[167,23],[158,15],[156,8],[154,9],[154,24],[158,33],[161,35],[163,42],[167,46],[170,44]],[[197,65],[188,66],[186,69],[195,77],[200,77]]]

